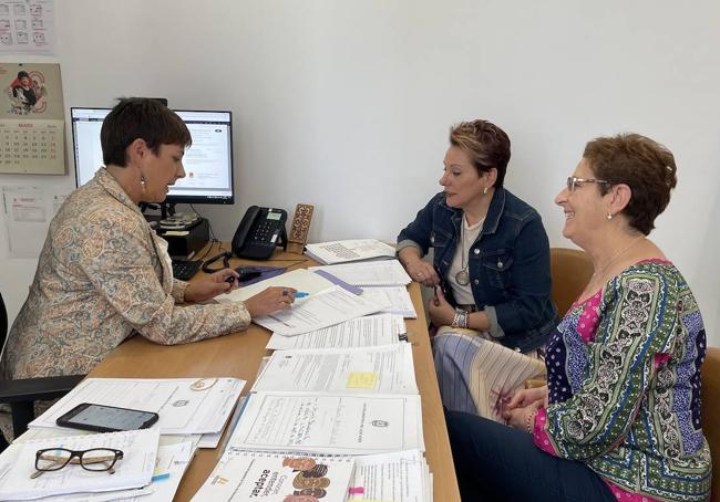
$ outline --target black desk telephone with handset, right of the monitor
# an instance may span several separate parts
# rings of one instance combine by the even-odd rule
[[[235,231],[233,252],[238,258],[267,260],[276,247],[287,249],[287,220],[284,209],[250,206]]]

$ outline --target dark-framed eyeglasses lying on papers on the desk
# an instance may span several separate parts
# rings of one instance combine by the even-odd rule
[[[38,478],[43,472],[59,471],[69,464],[80,464],[86,471],[115,472],[115,462],[122,460],[123,451],[113,448],[92,448],[90,450],[68,450],[66,448],[45,448],[35,453],[35,472],[30,478]]]

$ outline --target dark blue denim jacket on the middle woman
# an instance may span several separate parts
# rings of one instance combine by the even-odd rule
[[[412,245],[424,255],[433,248],[435,269],[445,278],[462,215],[445,203],[444,192],[435,195],[398,236],[398,252]],[[497,188],[469,254],[475,305],[487,314],[490,334],[521,352],[543,346],[557,325],[557,312],[551,301],[549,243],[537,211]]]

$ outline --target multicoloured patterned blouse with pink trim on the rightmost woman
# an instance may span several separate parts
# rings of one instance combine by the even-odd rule
[[[586,462],[618,500],[709,496],[704,327],[672,263],[624,270],[570,307],[546,349],[549,406],[534,428],[541,449]]]

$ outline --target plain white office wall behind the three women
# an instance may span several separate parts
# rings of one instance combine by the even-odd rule
[[[198,207],[229,239],[253,203],[316,206],[310,240],[392,241],[439,187],[449,126],[513,140],[507,186],[543,215],[586,140],[634,130],[672,149],[656,241],[720,345],[720,3],[491,0],[62,0],[65,108],[166,96],[232,109],[237,203]],[[4,61],[12,61],[4,57]],[[71,138],[69,137],[69,151]],[[74,184],[70,175],[35,185]],[[0,185],[27,184],[0,175]],[[0,252],[7,254],[7,245]],[[11,316],[35,262],[0,258]]]

